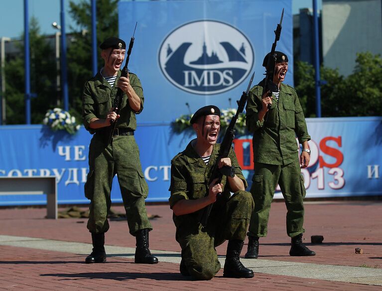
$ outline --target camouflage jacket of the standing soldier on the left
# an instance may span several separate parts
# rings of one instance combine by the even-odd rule
[[[131,87],[140,98],[140,110],[139,112],[133,112],[127,102],[127,95],[124,94],[120,111],[121,117],[118,119],[117,128],[135,130],[135,114],[139,114],[143,110],[143,89],[135,74],[129,73],[128,75]],[[118,91],[117,82],[121,77],[121,71],[118,72],[117,76],[113,88],[100,72],[85,83],[82,95],[82,117],[85,128],[91,134],[94,134],[97,130],[90,128],[90,120],[93,118],[105,119],[110,108],[113,106]]]

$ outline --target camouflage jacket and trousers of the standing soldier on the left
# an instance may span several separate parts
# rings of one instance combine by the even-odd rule
[[[113,137],[112,144],[107,145],[111,128],[91,129],[93,118],[106,119],[117,94],[118,77],[113,88],[98,73],[85,83],[83,93],[83,120],[85,128],[94,134],[89,146],[89,174],[85,184],[85,196],[90,199],[88,229],[91,233],[105,233],[109,229],[107,213],[111,206],[110,192],[113,177],[117,174],[122,199],[127,215],[129,232],[133,234],[140,229],[152,229],[147,218],[144,199],[148,186],[142,173],[139,160],[139,149],[133,135]],[[121,117],[117,121],[118,129],[134,131],[135,114],[143,109],[143,90],[138,77],[129,73],[130,85],[140,98],[139,112],[133,112],[124,94],[121,106]]]

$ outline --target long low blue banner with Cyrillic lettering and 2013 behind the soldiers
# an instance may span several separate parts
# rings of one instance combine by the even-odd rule
[[[382,118],[307,119],[312,140],[311,162],[302,169],[307,198],[382,195]],[[177,135],[166,124],[138,124],[134,135],[149,186],[146,201],[167,201],[170,160],[194,138]],[[58,203],[88,203],[84,196],[91,135],[84,129],[71,136],[47,126],[0,127],[0,176],[57,177]],[[297,142],[296,142],[297,143]],[[234,141],[243,172],[251,185],[252,137]],[[249,188],[248,188],[249,189]],[[281,198],[276,192],[275,198]],[[44,204],[44,195],[0,195],[0,206]],[[112,201],[122,202],[117,177]]]

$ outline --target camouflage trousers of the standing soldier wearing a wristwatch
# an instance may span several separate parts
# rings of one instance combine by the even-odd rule
[[[305,232],[303,198],[306,191],[298,160],[287,165],[255,162],[255,174],[252,181],[251,193],[255,201],[255,210],[251,217],[249,236],[266,236],[270,204],[277,183],[285,199],[288,236],[294,237]]]

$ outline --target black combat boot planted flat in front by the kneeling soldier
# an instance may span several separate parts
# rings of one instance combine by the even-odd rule
[[[240,262],[240,253],[242,252],[244,241],[228,241],[226,262],[224,263],[223,277],[228,278],[252,278],[254,272],[247,269]]]

